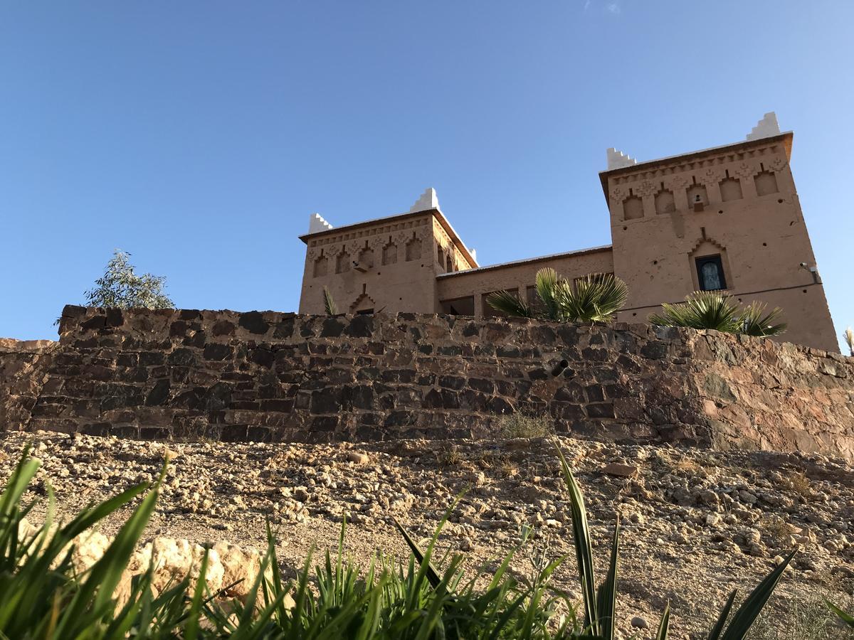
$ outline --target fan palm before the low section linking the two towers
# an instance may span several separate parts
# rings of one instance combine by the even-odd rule
[[[595,273],[571,283],[551,268],[537,271],[534,305],[508,291],[487,297],[488,305],[508,316],[533,317],[559,323],[605,323],[629,297],[626,283],[611,273]]]

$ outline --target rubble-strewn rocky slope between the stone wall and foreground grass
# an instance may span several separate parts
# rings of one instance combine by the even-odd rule
[[[155,479],[168,456],[150,537],[263,547],[269,519],[278,557],[290,573],[312,546],[336,546],[345,515],[345,546],[354,557],[367,561],[377,550],[406,556],[392,516],[424,538],[464,491],[441,547],[465,554],[470,570],[495,563],[518,542],[525,523],[535,535],[516,556],[516,573],[531,573],[543,553],[572,551],[568,497],[546,439],[238,445],[42,432],[0,438],[0,478],[8,477],[32,441],[44,463],[32,497],[44,495],[50,482],[65,514]],[[816,635],[804,631],[829,620],[819,596],[851,606],[850,466],[817,456],[559,442],[585,492],[600,567],[615,515],[623,519],[617,603],[622,637],[652,637],[644,625],[656,625],[667,602],[671,637],[699,637],[729,591],[749,592],[793,548],[800,551],[769,604],[769,617],[791,637],[850,637],[832,624]],[[126,515],[104,522],[102,532],[114,532]],[[31,520],[38,517],[37,509]],[[559,586],[570,591],[577,591],[574,567],[573,555],[556,573]]]

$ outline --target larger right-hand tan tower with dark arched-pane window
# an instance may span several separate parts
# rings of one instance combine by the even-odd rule
[[[698,289],[779,306],[779,340],[838,351],[789,166],[793,133],[767,113],[740,143],[638,162],[608,150],[600,173],[614,271],[629,285],[619,319],[646,321]]]

